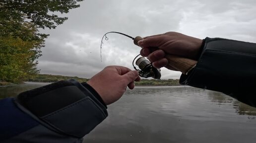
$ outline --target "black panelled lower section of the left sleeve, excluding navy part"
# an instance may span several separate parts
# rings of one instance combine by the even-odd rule
[[[92,89],[70,79],[23,92],[16,102],[58,132],[82,138],[108,116]]]

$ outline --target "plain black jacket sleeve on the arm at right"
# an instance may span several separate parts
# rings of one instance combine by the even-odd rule
[[[204,39],[195,68],[180,83],[223,92],[256,107],[256,43]]]

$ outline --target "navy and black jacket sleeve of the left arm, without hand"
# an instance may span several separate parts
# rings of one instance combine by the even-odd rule
[[[106,105],[95,96],[93,90],[69,80],[4,99],[0,104],[0,139],[9,139],[6,143],[53,143],[56,139],[80,143],[108,115]]]

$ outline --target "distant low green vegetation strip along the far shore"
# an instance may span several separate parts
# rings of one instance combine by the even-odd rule
[[[32,78],[27,79],[27,81],[33,82],[56,82],[60,80],[67,80],[67,79],[75,79],[79,82],[86,82],[88,78],[80,78],[77,76],[62,76],[62,75],[51,75],[51,74],[38,74]],[[180,85],[179,79],[141,79],[139,82],[135,82],[136,86],[174,86]]]

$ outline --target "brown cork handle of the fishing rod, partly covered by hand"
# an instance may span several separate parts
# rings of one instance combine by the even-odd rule
[[[141,36],[136,36],[133,43],[138,46],[138,41],[143,39]],[[184,58],[181,56],[167,54],[165,58],[168,60],[168,65],[182,72],[183,74],[188,74],[192,68],[197,64],[197,61]]]

